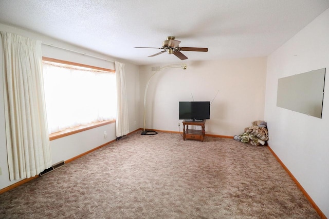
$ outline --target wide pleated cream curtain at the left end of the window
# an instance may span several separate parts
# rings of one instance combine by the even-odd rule
[[[10,180],[51,166],[41,42],[1,32],[4,51],[6,141]]]

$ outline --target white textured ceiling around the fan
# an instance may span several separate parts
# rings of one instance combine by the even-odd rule
[[[138,65],[179,62],[149,55],[167,36],[188,61],[267,56],[329,7],[329,0],[0,0],[0,23]],[[55,45],[56,46],[56,45]]]

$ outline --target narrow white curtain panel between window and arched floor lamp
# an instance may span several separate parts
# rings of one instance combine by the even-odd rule
[[[116,136],[121,137],[129,133],[128,105],[123,63],[115,62],[115,73],[117,79]]]

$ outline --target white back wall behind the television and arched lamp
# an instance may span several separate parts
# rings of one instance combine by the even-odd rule
[[[194,101],[211,102],[219,91],[210,106],[206,134],[241,134],[253,121],[264,119],[266,62],[266,57],[186,62],[186,70],[170,68],[158,72],[147,94],[146,128],[178,131],[179,101],[192,101],[193,95]],[[153,73],[151,67],[140,67],[142,98]]]

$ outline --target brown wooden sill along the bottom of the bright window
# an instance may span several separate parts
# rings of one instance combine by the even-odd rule
[[[92,123],[92,124],[88,124],[88,125],[84,125],[84,126],[78,126],[78,127],[75,127],[75,128],[65,129],[63,131],[51,133],[51,134],[49,134],[49,141],[55,140],[57,138],[65,137],[65,136],[68,136],[68,135],[71,135],[71,134],[76,134],[78,132],[86,131],[88,129],[93,129],[93,128],[97,128],[97,127],[100,127],[100,126],[105,126],[105,125],[111,124],[111,123],[115,123],[115,120]]]

